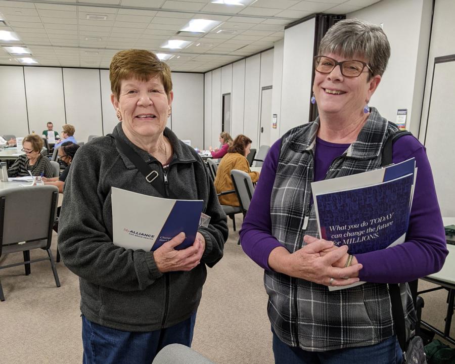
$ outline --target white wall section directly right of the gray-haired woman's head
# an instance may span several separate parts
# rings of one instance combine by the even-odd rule
[[[397,109],[407,109],[406,128],[415,135],[421,118],[431,6],[431,0],[383,0],[347,14],[347,18],[383,23],[391,56],[370,105],[393,122]]]

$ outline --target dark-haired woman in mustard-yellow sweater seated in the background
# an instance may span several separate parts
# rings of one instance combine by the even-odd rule
[[[221,159],[218,170],[216,171],[216,193],[234,190],[234,184],[232,183],[231,178],[231,170],[233,169],[239,169],[247,172],[251,177],[251,181],[253,183],[257,182],[259,179],[259,173],[252,172],[250,170],[250,164],[246,159],[246,156],[250,154],[250,148],[251,139],[248,138],[248,136],[243,134],[236,136],[232,146],[228,149],[228,153]],[[234,193],[218,196],[218,198],[221,205],[240,206],[237,195]]]

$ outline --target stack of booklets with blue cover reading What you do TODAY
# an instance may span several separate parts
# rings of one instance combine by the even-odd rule
[[[321,239],[336,246],[347,245],[353,255],[403,243],[416,175],[416,161],[411,158],[368,172],[313,182]]]

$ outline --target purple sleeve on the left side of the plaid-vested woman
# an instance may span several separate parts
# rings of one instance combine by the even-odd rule
[[[240,230],[243,251],[262,268],[270,270],[268,256],[276,247],[283,246],[271,235],[270,197],[274,187],[281,140],[271,146],[261,168],[248,213]]]

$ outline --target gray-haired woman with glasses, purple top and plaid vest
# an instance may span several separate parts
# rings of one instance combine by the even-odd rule
[[[240,238],[265,269],[277,363],[400,363],[387,284],[432,274],[447,255],[430,165],[413,135],[391,151],[393,163],[415,157],[418,167],[405,242],[350,255],[319,239],[311,183],[380,168],[385,141],[398,132],[368,105],[389,56],[379,26],[357,19],[332,26],[314,59],[311,102],[319,117],[285,133],[262,166]],[[328,289],[359,280],[366,283]],[[411,292],[400,287],[410,327]]]

